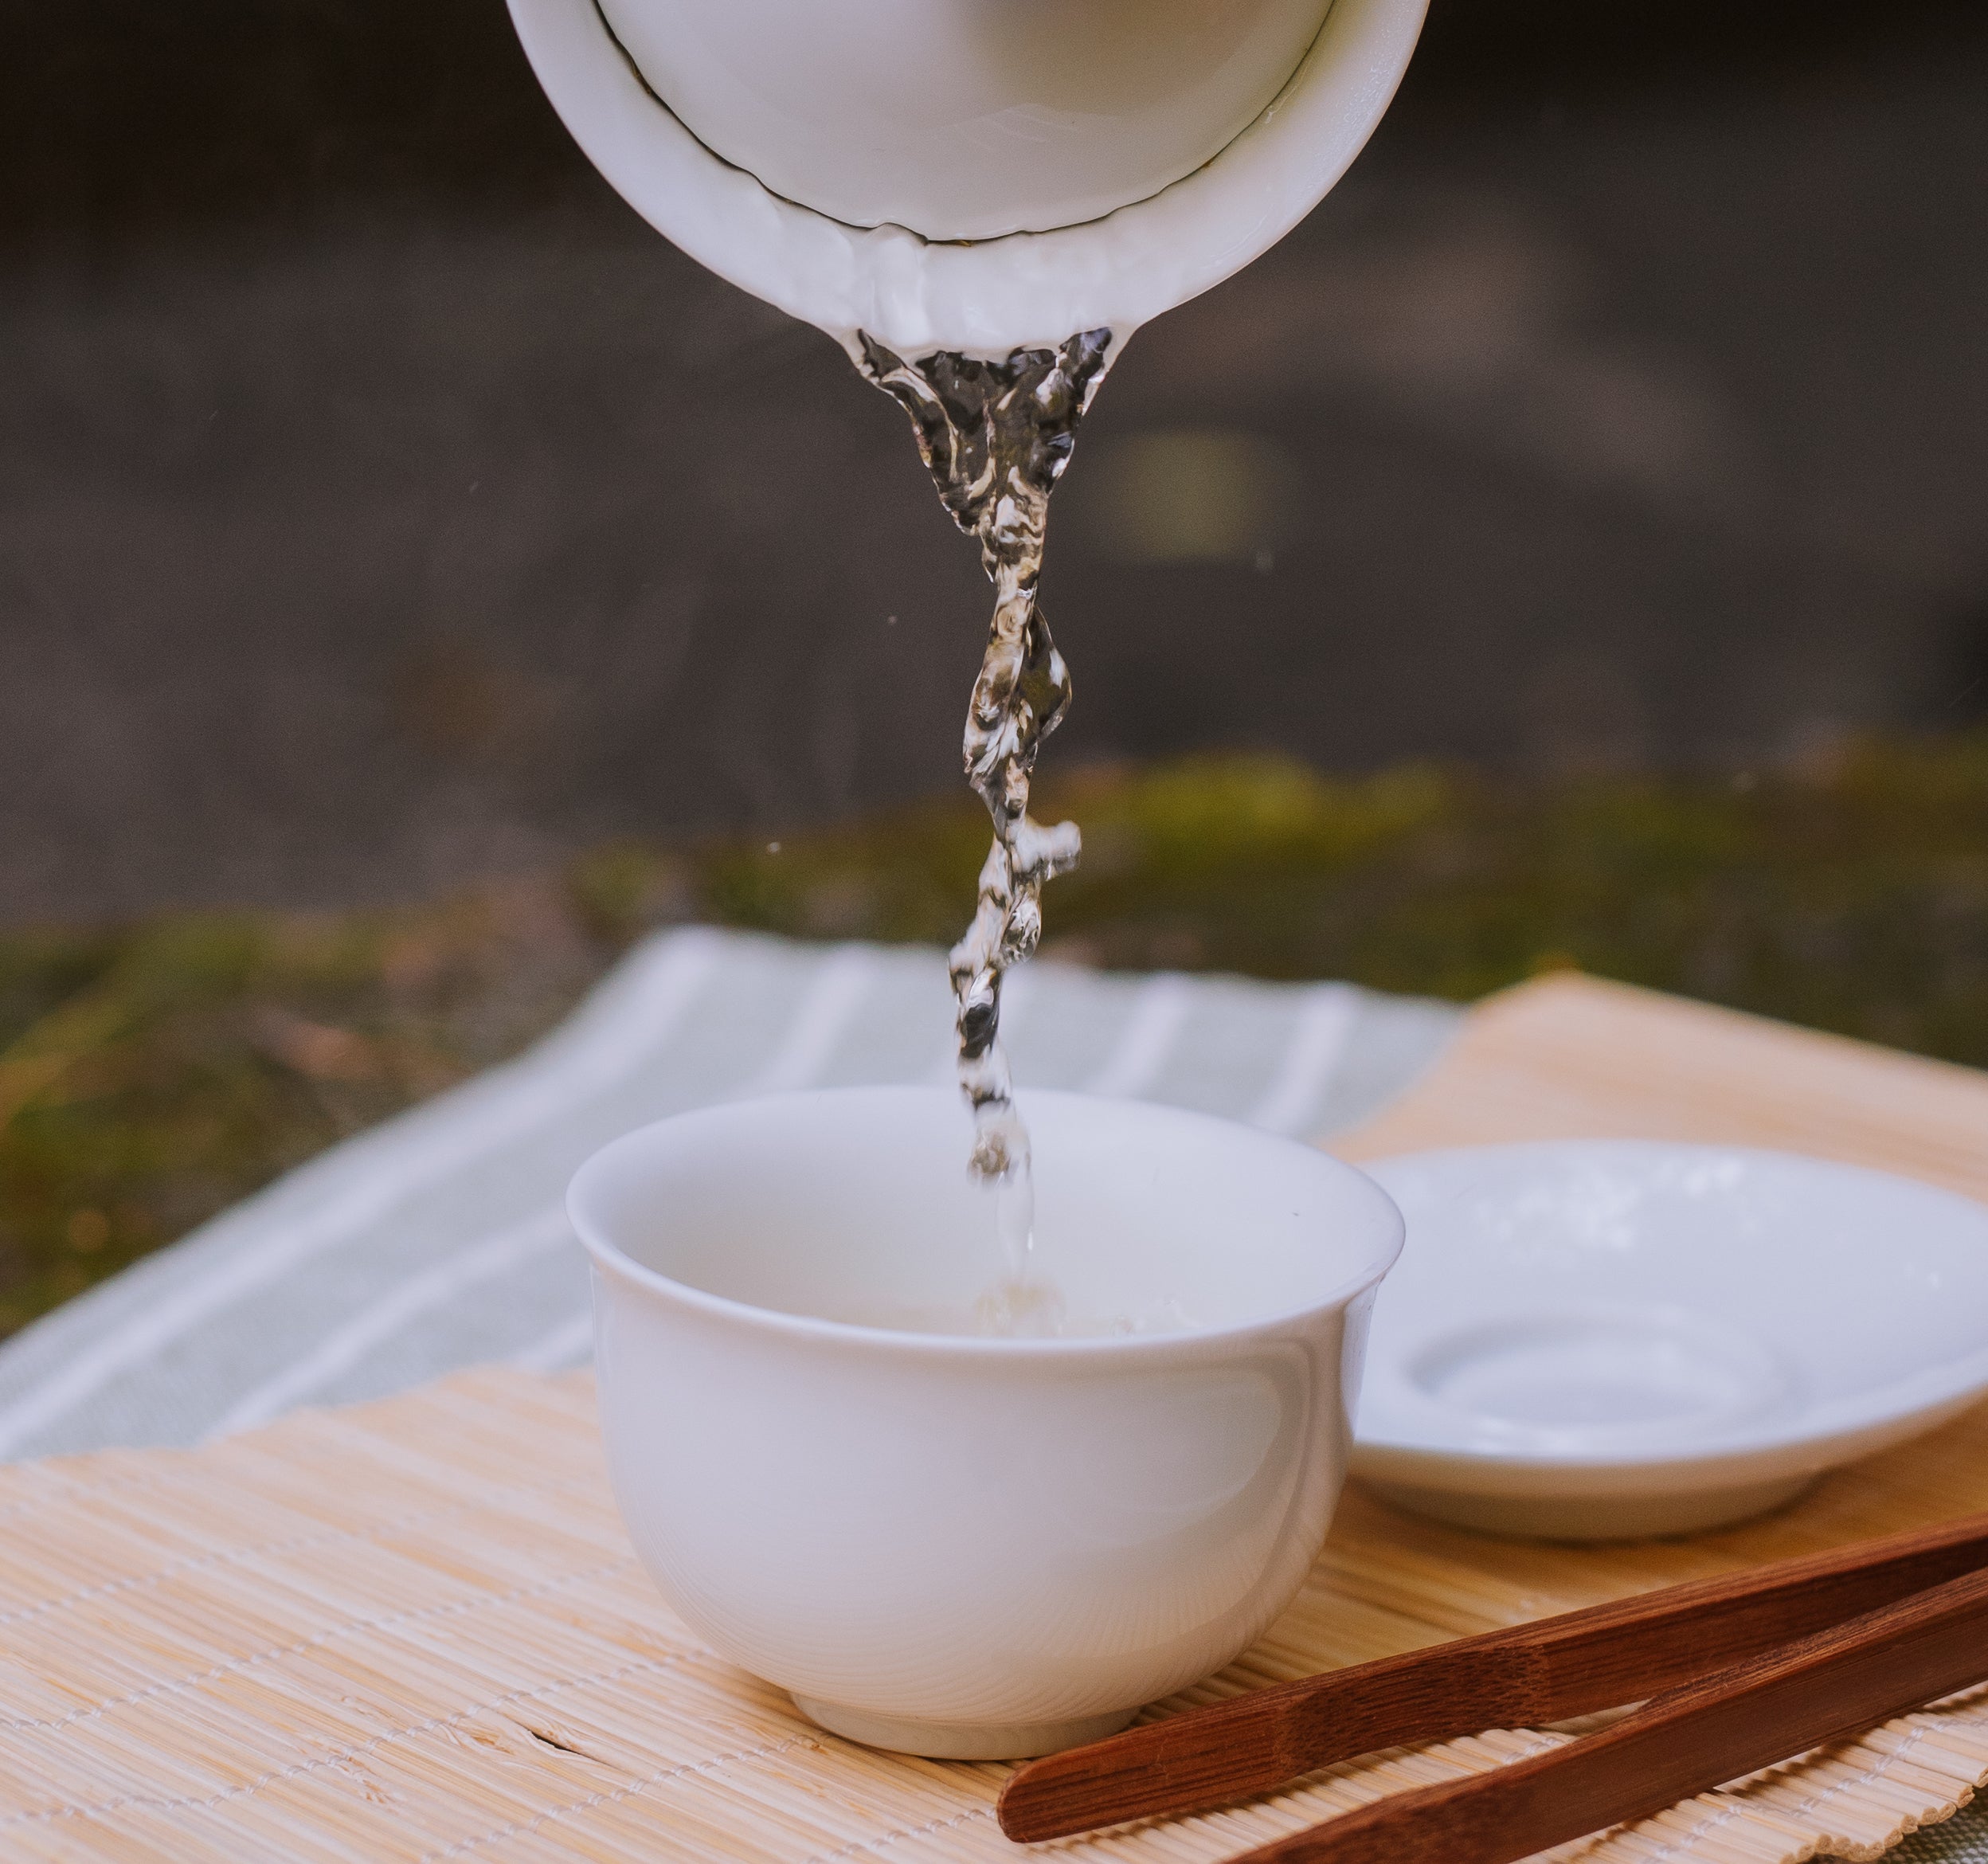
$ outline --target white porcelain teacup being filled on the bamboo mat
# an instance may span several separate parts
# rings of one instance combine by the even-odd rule
[[[682,1115],[596,1155],[614,1490],[672,1606],[831,1729],[1044,1753],[1219,1669],[1284,1608],[1346,1473],[1400,1218],[1324,1155],[1028,1095],[1038,1260],[1074,1314],[1193,1331],[897,1333],[998,1278],[950,1089]]]

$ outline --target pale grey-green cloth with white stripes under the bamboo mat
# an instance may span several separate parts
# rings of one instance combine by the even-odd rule
[[[1036,964],[1016,1079],[1314,1137],[1370,1113],[1457,1011],[1346,984]],[[573,1365],[586,1270],[563,1196],[618,1133],[688,1107],[950,1077],[934,950],[694,926],[648,940],[535,1049],[364,1133],[0,1347],[0,1457],[197,1443],[479,1359]]]

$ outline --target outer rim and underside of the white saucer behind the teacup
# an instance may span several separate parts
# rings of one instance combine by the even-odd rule
[[[1745,1159],[1775,1170],[1813,1178],[1861,1178],[1903,1196],[1944,1202],[1972,1218],[1988,1242],[1988,1204],[1946,1184],[1906,1172],[1795,1153],[1785,1147],[1728,1145],[1720,1141],[1668,1139],[1533,1139],[1491,1145],[1427,1147],[1366,1161],[1376,1170],[1390,1166],[1429,1166],[1535,1155],[1573,1159]],[[1384,1186],[1386,1188],[1386,1186]],[[1370,1361],[1372,1371],[1372,1361]],[[1773,1425],[1732,1425],[1706,1429],[1644,1451],[1559,1453],[1523,1447],[1483,1449],[1431,1445],[1409,1435],[1386,1435],[1364,1409],[1356,1425],[1356,1476],[1421,1488],[1467,1490],[1479,1494],[1612,1494],[1654,1488],[1698,1490],[1720,1480],[1747,1480],[1755,1475],[1819,1475],[1841,1463],[1871,1455],[1956,1417],[1988,1395],[1988,1341],[1899,1379],[1863,1385],[1835,1399],[1805,1405],[1797,1415]]]

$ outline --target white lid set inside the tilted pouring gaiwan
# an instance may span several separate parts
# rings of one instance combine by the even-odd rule
[[[1233,143],[1326,0],[600,0],[716,155],[853,227],[1095,221]]]

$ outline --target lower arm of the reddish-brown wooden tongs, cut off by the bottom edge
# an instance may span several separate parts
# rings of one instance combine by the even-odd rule
[[[1235,1864],[1513,1864],[1988,1679],[1988,1570],[1722,1669],[1553,1753],[1421,1786]]]

